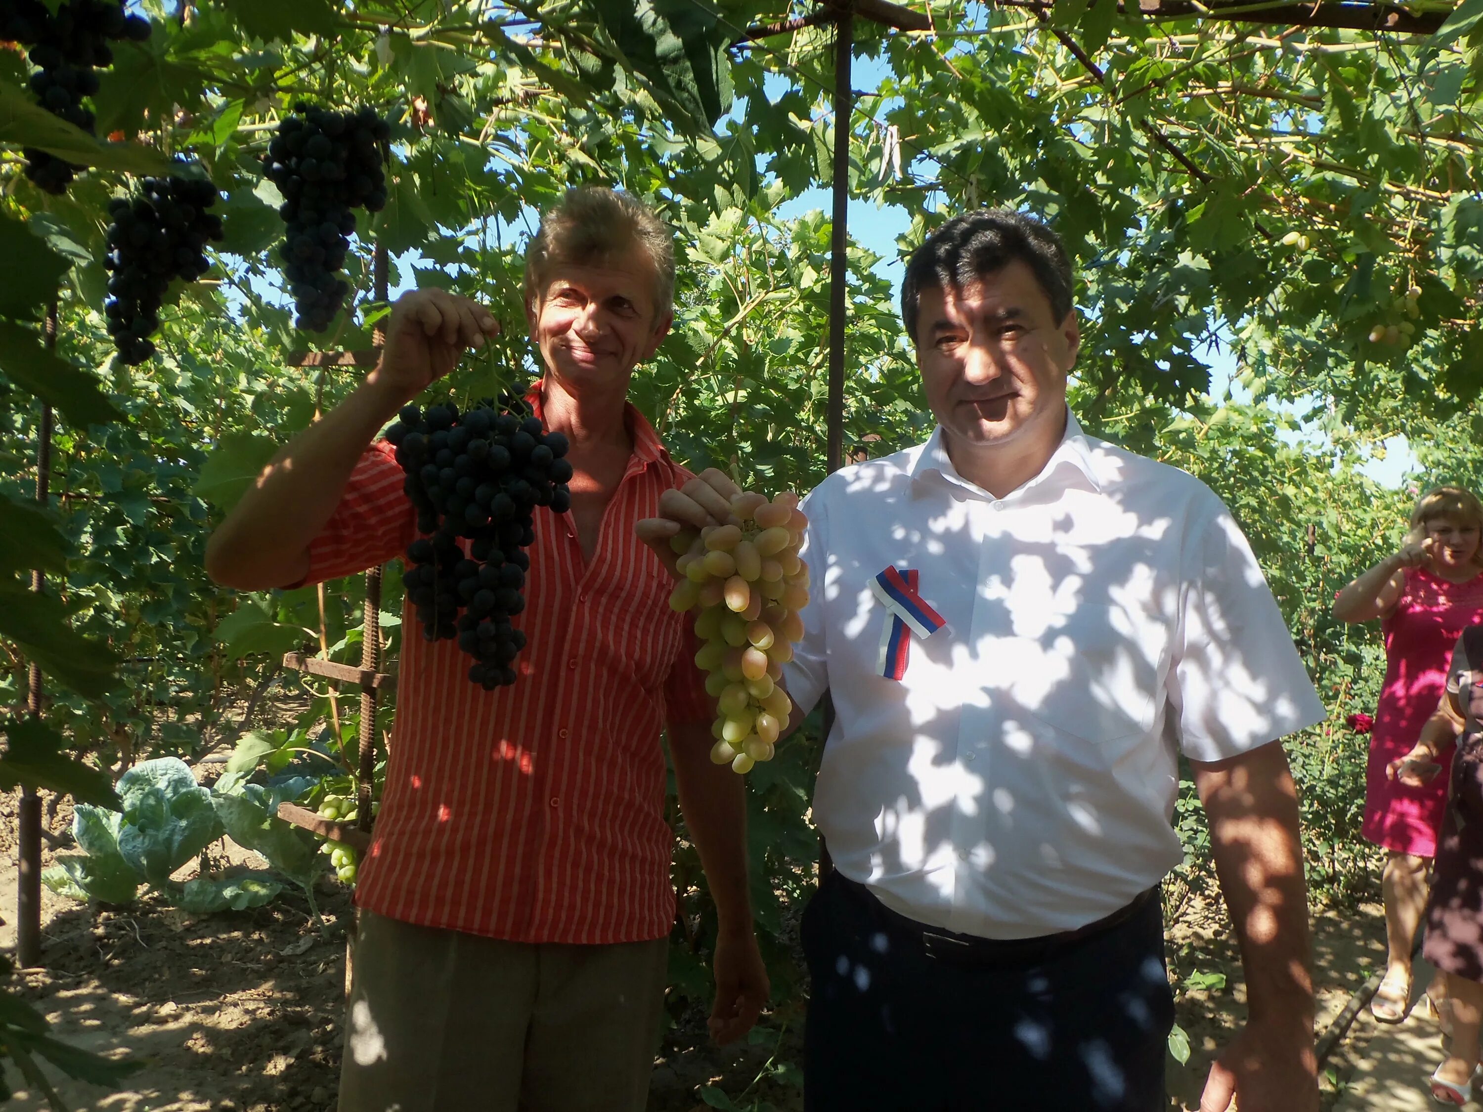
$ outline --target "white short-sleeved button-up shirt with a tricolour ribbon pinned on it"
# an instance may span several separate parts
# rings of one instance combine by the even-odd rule
[[[1182,860],[1178,752],[1219,761],[1324,709],[1229,510],[1198,479],[1066,434],[1004,498],[942,428],[804,503],[813,600],[786,667],[835,704],[814,820],[835,866],[919,922],[1072,930]],[[879,670],[871,581],[915,569],[948,621]]]

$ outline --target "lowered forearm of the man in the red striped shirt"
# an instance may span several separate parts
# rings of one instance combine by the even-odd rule
[[[675,762],[679,810],[706,870],[721,930],[750,931],[746,783],[730,765],[710,762],[712,744],[704,724],[670,727],[669,753]]]

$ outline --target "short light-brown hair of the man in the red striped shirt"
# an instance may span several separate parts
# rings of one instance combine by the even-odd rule
[[[632,193],[584,185],[568,190],[541,216],[525,252],[525,304],[534,302],[553,262],[602,265],[638,246],[654,264],[654,310],[667,317],[675,308],[675,233]]]

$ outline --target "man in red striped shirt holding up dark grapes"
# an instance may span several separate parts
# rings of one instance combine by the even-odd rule
[[[673,319],[673,274],[670,231],[611,190],[569,193],[532,240],[532,403],[571,442],[571,512],[535,510],[513,686],[469,682],[457,642],[403,641],[341,1112],[644,1108],[675,916],[661,728],[721,922],[712,1035],[740,1036],[767,1001],[742,778],[709,761],[694,646],[633,529],[690,477],[627,403]],[[211,575],[264,590],[400,556],[417,513],[375,437],[494,332],[443,291],[399,299],[377,369],[217,529]]]

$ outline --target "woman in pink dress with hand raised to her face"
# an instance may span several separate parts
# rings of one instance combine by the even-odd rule
[[[1385,686],[1375,712],[1364,790],[1364,836],[1390,851],[1385,861],[1388,967],[1370,1011],[1398,1023],[1410,1001],[1410,950],[1427,906],[1427,872],[1437,854],[1447,775],[1422,786],[1390,780],[1385,768],[1410,752],[1446,686],[1458,636],[1483,620],[1479,535],[1483,504],[1458,486],[1439,486],[1416,503],[1406,546],[1339,592],[1333,617],[1381,618]],[[1431,990],[1441,999],[1440,980]]]

